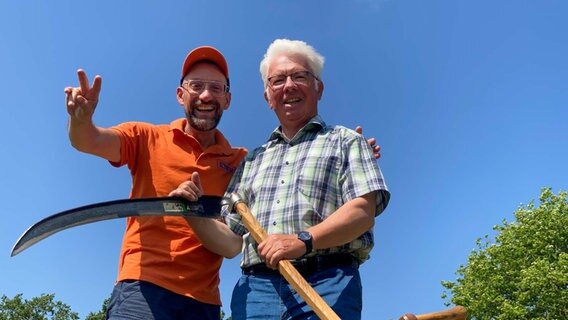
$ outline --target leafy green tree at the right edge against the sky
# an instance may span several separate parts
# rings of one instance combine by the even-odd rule
[[[493,228],[494,241],[477,239],[457,280],[442,281],[451,303],[465,306],[470,319],[568,319],[567,196],[545,188],[538,207],[531,201],[515,211],[515,222]]]

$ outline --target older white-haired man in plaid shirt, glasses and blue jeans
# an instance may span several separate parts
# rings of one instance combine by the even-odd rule
[[[247,155],[227,192],[244,198],[269,236],[256,243],[240,216],[225,212],[230,229],[244,237],[233,319],[317,318],[278,273],[282,259],[341,319],[361,318],[358,268],[390,193],[365,139],[318,114],[323,64],[313,47],[287,39],[274,41],[260,63],[264,97],[280,126]]]

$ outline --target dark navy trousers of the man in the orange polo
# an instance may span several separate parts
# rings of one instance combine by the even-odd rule
[[[145,281],[114,286],[108,320],[219,320],[221,307],[199,302]]]

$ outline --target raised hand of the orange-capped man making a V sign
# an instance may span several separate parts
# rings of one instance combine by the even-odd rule
[[[64,89],[67,113],[72,121],[90,122],[99,102],[103,78],[95,76],[91,87],[85,71],[77,70],[77,77],[79,78],[79,87],[66,87]]]

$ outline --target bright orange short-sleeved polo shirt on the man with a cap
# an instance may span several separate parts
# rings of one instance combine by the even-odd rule
[[[131,198],[167,196],[199,172],[204,194],[223,196],[246,149],[232,148],[216,131],[216,144],[203,150],[184,133],[186,119],[170,125],[128,122],[120,133],[120,162],[132,175]],[[219,268],[223,258],[207,250],[183,217],[130,217],[120,253],[117,281],[144,280],[221,305]]]

